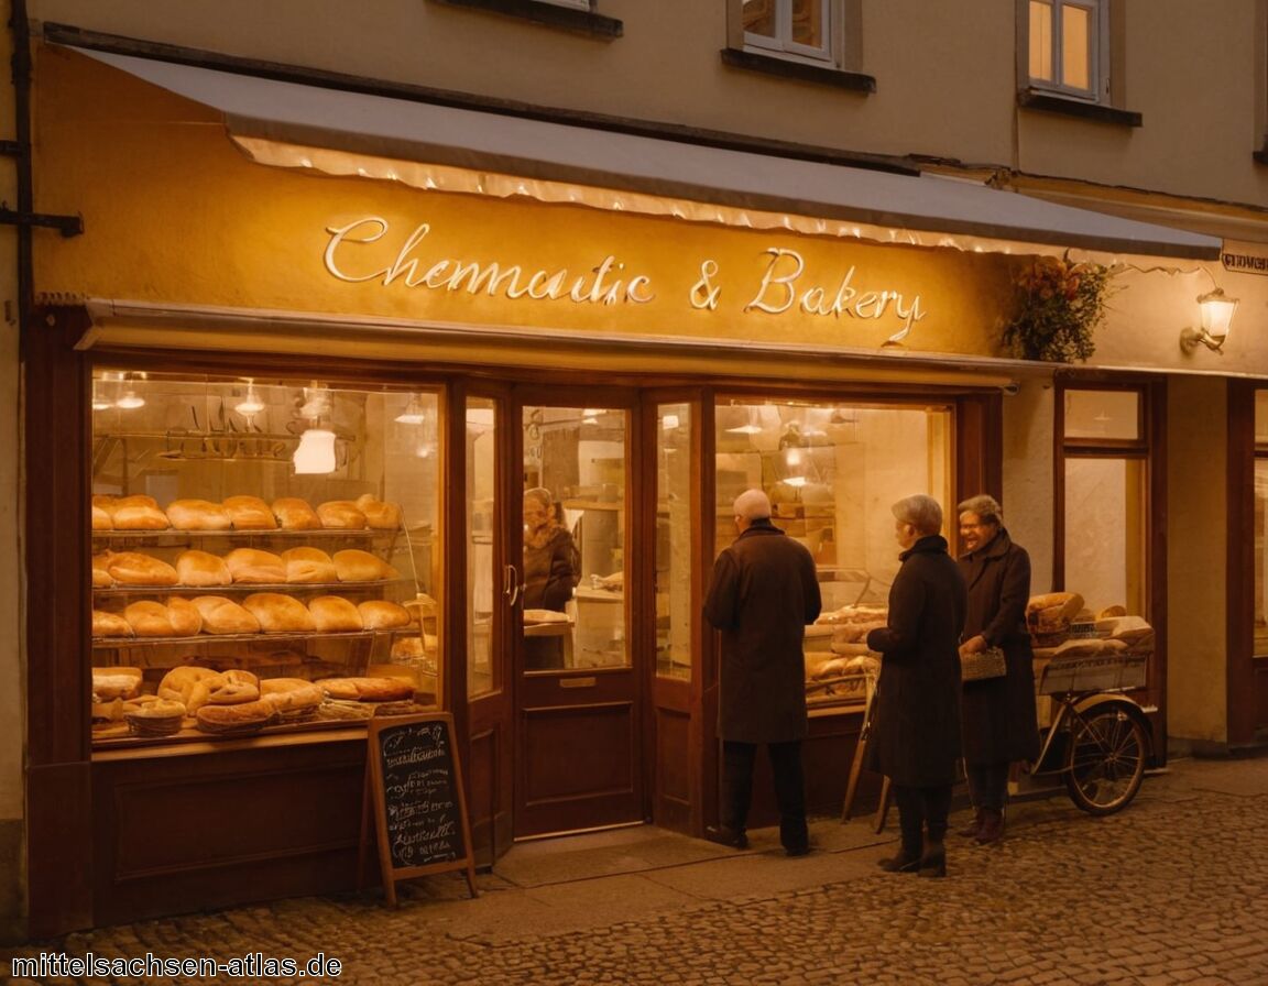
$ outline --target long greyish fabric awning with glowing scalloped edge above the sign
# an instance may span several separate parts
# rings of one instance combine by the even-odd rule
[[[1216,237],[933,175],[701,147],[76,51],[224,114],[264,163],[879,242],[1211,260]]]

